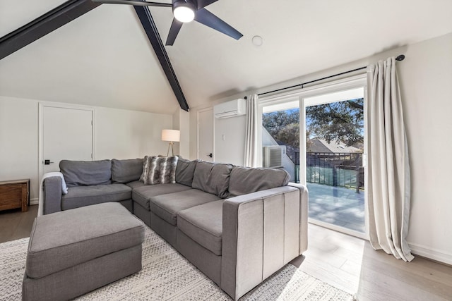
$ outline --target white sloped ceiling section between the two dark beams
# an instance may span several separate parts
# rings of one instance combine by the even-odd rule
[[[155,113],[179,107],[130,6],[99,6],[6,56],[0,95]]]

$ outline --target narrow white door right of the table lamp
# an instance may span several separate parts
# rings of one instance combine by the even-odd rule
[[[198,111],[198,159],[213,161],[213,109]]]

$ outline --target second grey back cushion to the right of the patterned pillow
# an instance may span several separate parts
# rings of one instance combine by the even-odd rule
[[[200,161],[196,164],[191,187],[225,198],[231,170],[231,164]]]

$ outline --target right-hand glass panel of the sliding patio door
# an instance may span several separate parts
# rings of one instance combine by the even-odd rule
[[[312,223],[363,236],[364,87],[303,99]]]

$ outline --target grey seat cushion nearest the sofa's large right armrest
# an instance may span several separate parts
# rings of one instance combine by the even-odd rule
[[[210,252],[221,255],[223,200],[179,211],[177,228]]]

